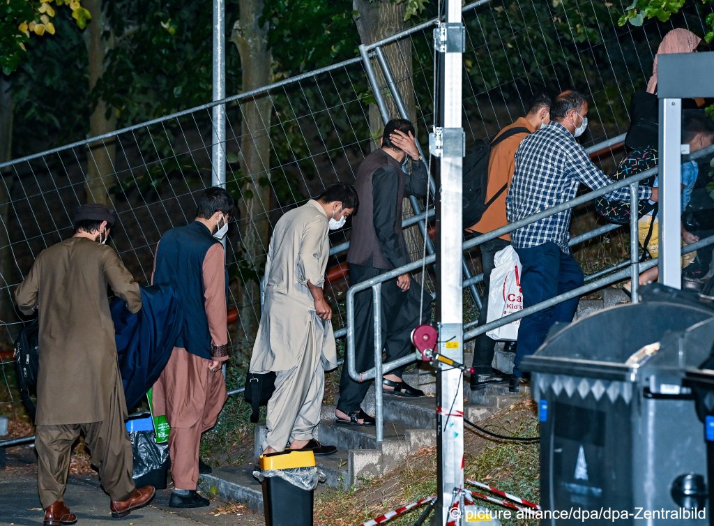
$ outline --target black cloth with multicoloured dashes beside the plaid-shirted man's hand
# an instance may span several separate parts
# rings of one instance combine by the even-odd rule
[[[645,172],[650,168],[657,166],[658,156],[657,149],[653,146],[648,146],[640,149],[635,149],[625,156],[620,161],[615,172],[608,176],[613,181],[621,181],[625,177],[630,177],[635,174]],[[655,175],[640,181],[640,186],[652,186],[655,180]],[[604,196],[595,199],[595,210],[604,217],[609,223],[630,224],[630,201],[608,201]],[[645,214],[653,212],[657,214],[657,204],[651,204],[648,199],[640,199],[638,202],[637,217],[643,217]]]

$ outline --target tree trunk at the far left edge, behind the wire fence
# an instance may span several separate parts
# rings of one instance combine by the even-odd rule
[[[3,74],[0,74],[0,162],[9,161],[12,157],[12,117],[14,104],[12,101],[10,79]],[[11,170],[6,170],[0,173],[2,181],[0,182],[0,219],[2,226],[0,227],[0,247],[10,246],[10,233],[7,230],[9,219],[9,203],[10,192],[14,174]],[[11,249],[4,248],[0,250],[0,277],[2,284],[8,285],[13,282],[12,273],[12,257]],[[0,322],[13,321],[14,307],[11,291],[3,290],[0,293]],[[9,349],[11,347],[11,337],[6,331],[0,331],[0,350]]]

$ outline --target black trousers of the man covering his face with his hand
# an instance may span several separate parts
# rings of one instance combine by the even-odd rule
[[[384,269],[364,267],[350,264],[350,282],[353,285],[377,277]],[[411,343],[411,332],[419,324],[419,305],[422,304],[421,323],[431,321],[431,297],[424,291],[421,300],[421,286],[415,279],[411,287],[402,292],[397,287],[397,280],[383,282],[381,288],[382,302],[382,345],[386,355],[384,362],[391,362],[414,351]],[[355,295],[355,364],[358,372],[374,367],[374,316],[372,305],[372,289],[366,289]],[[401,377],[406,367],[394,369],[391,374]],[[346,413],[360,410],[362,400],[371,384],[371,380],[355,382],[347,373],[347,364],[342,367],[340,379],[340,398],[338,410]]]

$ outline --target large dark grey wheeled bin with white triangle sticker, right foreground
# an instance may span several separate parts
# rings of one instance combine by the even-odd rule
[[[593,516],[605,510],[622,525],[706,524],[672,492],[706,480],[703,424],[683,378],[710,346],[683,336],[713,314],[671,298],[610,307],[554,327],[523,359],[539,407],[542,525],[582,525],[583,512],[610,523]]]

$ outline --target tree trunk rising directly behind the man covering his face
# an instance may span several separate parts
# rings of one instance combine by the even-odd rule
[[[404,13],[406,4],[392,3],[389,0],[353,0],[353,8],[358,13],[355,23],[359,32],[362,44],[371,44],[387,36],[392,36],[405,29]],[[382,52],[391,70],[394,83],[397,86],[401,99],[406,108],[408,119],[416,127],[416,104],[414,101],[414,89],[412,87],[412,63],[411,63],[411,39],[401,39],[383,47]],[[397,106],[386,87],[381,67],[377,61],[373,62],[377,82],[380,86],[382,96],[389,113],[388,118],[394,119],[399,116]],[[376,104],[369,105],[369,129],[371,137],[376,137],[375,148],[379,147],[379,138],[382,137],[384,122]],[[423,146],[423,145],[422,145]],[[403,217],[414,215],[409,199],[404,199]],[[406,246],[411,254],[415,254],[412,259],[421,258],[423,237],[420,230],[415,225],[404,232]]]

